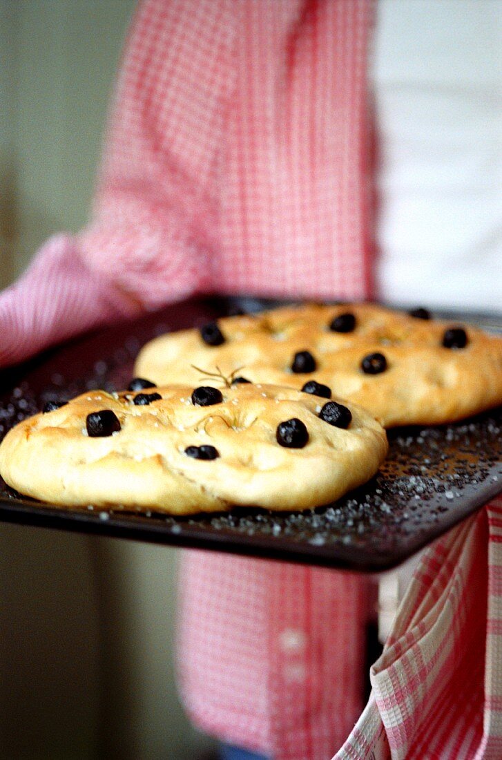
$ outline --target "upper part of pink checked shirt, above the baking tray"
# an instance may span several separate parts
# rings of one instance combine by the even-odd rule
[[[149,308],[368,295],[367,35],[366,0],[147,0],[84,261]]]

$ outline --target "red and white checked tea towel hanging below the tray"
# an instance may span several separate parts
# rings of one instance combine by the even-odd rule
[[[502,758],[502,496],[422,556],[333,760]]]

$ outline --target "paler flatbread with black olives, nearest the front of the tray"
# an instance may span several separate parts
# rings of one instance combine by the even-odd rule
[[[0,473],[55,505],[311,508],[365,483],[387,453],[365,410],[323,393],[216,382],[92,391],[11,429]]]

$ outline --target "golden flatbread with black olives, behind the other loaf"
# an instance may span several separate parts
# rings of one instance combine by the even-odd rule
[[[135,372],[197,382],[239,369],[251,382],[302,388],[315,380],[385,427],[461,420],[502,403],[502,339],[466,325],[372,304],[274,309],[157,337]]]

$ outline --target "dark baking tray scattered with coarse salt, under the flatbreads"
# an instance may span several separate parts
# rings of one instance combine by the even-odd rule
[[[165,331],[204,324],[255,299],[200,299],[81,337],[0,372],[0,437],[46,401],[90,388],[125,388],[134,357]],[[439,314],[438,314],[439,316]],[[502,332],[502,318],[444,312]],[[502,407],[462,423],[389,432],[377,476],[338,502],[304,513],[238,508],[174,518],[124,511],[39,506],[0,480],[0,521],[333,568],[379,572],[399,565],[502,490]]]

